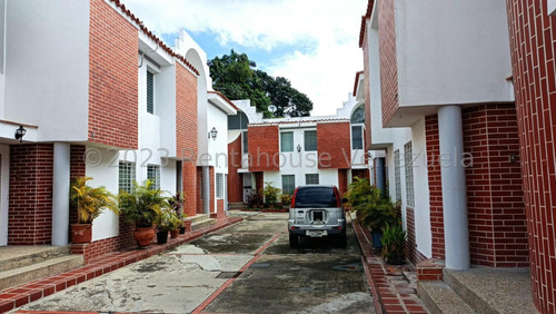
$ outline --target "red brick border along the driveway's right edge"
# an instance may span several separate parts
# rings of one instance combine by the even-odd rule
[[[383,313],[429,313],[423,305],[415,288],[405,278],[404,267],[389,266],[373,252],[373,241],[368,228],[353,222],[354,232],[363,252],[363,265],[369,283],[375,310]]]

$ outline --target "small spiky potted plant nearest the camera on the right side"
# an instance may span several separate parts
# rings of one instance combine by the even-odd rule
[[[390,265],[401,265],[405,259],[406,230],[401,224],[386,224],[383,228],[383,258]]]

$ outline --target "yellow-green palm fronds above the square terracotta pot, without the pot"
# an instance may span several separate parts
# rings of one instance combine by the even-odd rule
[[[70,189],[70,202],[77,208],[79,224],[91,224],[105,208],[119,214],[116,197],[103,186],[90,187],[91,177],[78,177]]]

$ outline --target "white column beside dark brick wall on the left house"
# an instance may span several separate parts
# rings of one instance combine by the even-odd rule
[[[70,145],[54,143],[52,176],[52,245],[68,245],[70,189]]]

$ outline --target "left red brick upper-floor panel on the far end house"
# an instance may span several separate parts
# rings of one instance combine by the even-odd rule
[[[249,171],[278,171],[280,169],[278,126],[248,127],[247,137]]]

